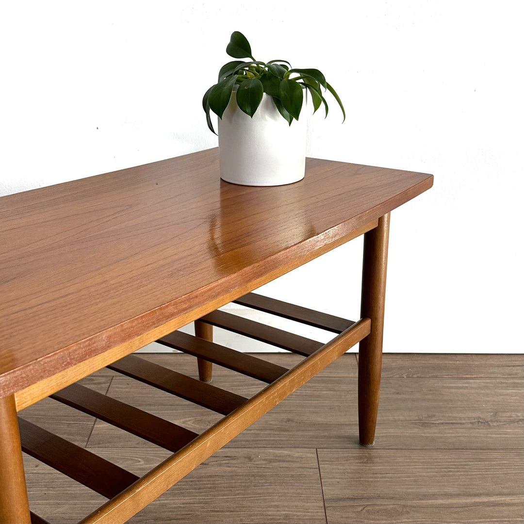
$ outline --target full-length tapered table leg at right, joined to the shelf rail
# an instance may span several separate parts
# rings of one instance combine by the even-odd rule
[[[388,262],[389,213],[378,220],[378,226],[364,234],[362,269],[361,318],[371,319],[371,332],[358,348],[358,432],[360,443],[375,443],[382,339],[384,333],[384,302]]]

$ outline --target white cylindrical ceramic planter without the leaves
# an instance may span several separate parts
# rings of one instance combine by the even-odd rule
[[[289,125],[264,93],[250,118],[238,108],[234,91],[222,119],[219,118],[220,177],[242,185],[282,185],[304,178],[304,110],[298,121]]]

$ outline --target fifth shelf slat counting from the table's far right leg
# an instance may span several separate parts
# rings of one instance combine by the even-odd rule
[[[177,424],[79,384],[61,389],[51,398],[173,452],[198,436]]]

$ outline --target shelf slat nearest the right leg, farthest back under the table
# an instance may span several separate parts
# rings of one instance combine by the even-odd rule
[[[331,331],[337,334],[342,333],[354,323],[352,320],[343,319],[340,316],[303,308],[300,305],[264,297],[257,293],[247,293],[243,297],[234,300],[234,302],[245,305],[248,308],[271,313],[285,319],[301,322],[302,324],[307,324],[314,328],[325,329],[326,331]]]

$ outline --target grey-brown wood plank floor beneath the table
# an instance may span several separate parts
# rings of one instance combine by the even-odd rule
[[[193,357],[140,356],[198,376]],[[301,358],[263,357],[287,367]],[[370,449],[357,443],[356,377],[356,355],[344,355],[130,522],[524,522],[522,355],[384,355]],[[132,381],[107,369],[82,383],[193,431],[220,418],[149,386],[126,388]],[[218,366],[213,384],[241,395],[264,386]],[[21,416],[136,474],[169,455],[50,399]],[[25,458],[41,517],[78,522],[105,500]]]

